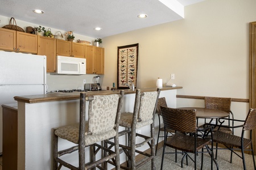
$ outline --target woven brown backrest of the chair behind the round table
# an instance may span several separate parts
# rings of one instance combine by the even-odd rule
[[[231,98],[225,97],[205,97],[205,108],[217,109],[220,111],[230,112]]]

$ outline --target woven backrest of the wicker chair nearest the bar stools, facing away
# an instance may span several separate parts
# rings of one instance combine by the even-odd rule
[[[174,109],[162,106],[160,109],[164,128],[184,133],[196,133],[196,109]]]

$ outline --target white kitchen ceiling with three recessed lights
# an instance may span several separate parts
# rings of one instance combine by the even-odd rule
[[[181,7],[204,0],[162,0]],[[40,9],[44,14],[35,14]],[[147,18],[137,18],[139,14]],[[158,0],[1,0],[0,15],[89,37],[106,37],[183,19]],[[101,27],[101,31],[94,30]]]

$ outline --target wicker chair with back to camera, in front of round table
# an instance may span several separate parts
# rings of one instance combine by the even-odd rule
[[[204,152],[208,152],[211,155],[211,168],[213,168],[213,141],[205,138],[205,136],[209,134],[212,136],[211,131],[213,126],[201,129],[205,131],[205,136],[199,138],[197,137],[196,109],[187,110],[167,107],[160,107],[160,109],[163,116],[164,129],[168,128],[176,131],[174,136],[168,138],[166,136],[164,139],[161,169],[163,169],[164,154],[175,154],[175,162],[177,162],[176,154],[183,154],[183,159],[187,157],[190,158],[194,162],[196,169],[196,157],[198,153],[202,155],[201,169],[203,169]],[[208,147],[208,145],[211,145],[211,147]],[[165,152],[166,146],[175,148],[175,152]],[[207,148],[206,151],[204,151],[204,147]],[[202,151],[199,151],[200,149],[202,149]],[[177,152],[177,150],[181,152]],[[194,154],[193,159],[188,155],[188,152]],[[183,159],[181,160],[181,168],[183,168]]]

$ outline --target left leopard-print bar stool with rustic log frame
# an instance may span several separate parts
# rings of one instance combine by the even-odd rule
[[[85,92],[81,92],[80,122],[53,130],[53,169],[60,169],[62,166],[83,170],[94,169],[95,167],[107,169],[105,162],[113,164],[115,169],[120,169],[118,126],[123,95],[124,91],[121,91],[121,95],[98,96],[86,96]],[[85,121],[86,101],[89,101],[88,121]],[[76,146],[58,151],[58,137],[75,143]],[[115,141],[114,151],[98,144],[98,142],[113,137]],[[85,147],[88,146],[90,146],[90,154],[85,154]],[[61,156],[77,150],[79,152],[79,167],[75,167],[61,158]],[[100,150],[104,151],[104,157],[96,160],[96,154]],[[90,163],[88,164],[85,164],[85,155],[90,155]],[[67,155],[64,158],[67,158]],[[102,166],[102,164],[104,165]]]

